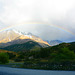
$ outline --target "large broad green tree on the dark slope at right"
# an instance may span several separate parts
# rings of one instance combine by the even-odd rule
[[[56,53],[51,53],[51,60],[55,62],[61,61],[74,61],[75,54],[73,51],[70,51],[67,47],[61,48]]]

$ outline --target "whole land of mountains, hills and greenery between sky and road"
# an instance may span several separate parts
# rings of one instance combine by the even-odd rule
[[[31,33],[8,30],[0,34],[0,64],[29,69],[75,70],[75,42],[53,40],[51,46]]]

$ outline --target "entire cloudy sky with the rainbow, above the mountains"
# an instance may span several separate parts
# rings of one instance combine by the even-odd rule
[[[0,0],[0,30],[11,28],[43,40],[75,41],[75,0]]]

